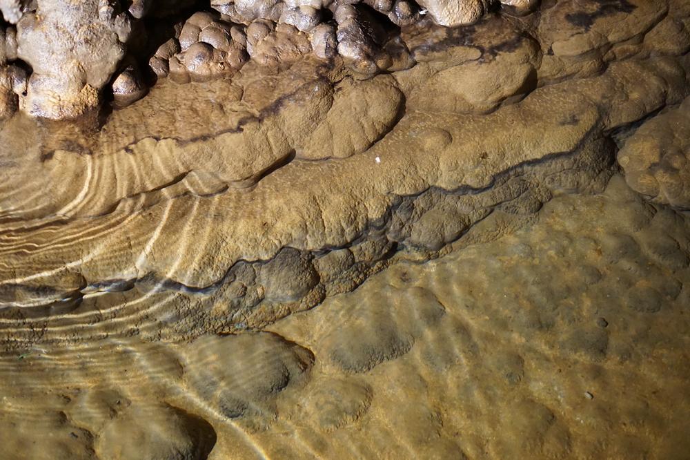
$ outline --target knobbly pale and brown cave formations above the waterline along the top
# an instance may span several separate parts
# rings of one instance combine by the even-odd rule
[[[280,64],[313,52],[320,59],[339,55],[366,75],[400,70],[414,60],[391,29],[428,21],[466,26],[492,3],[213,0],[213,10],[181,19],[192,2],[137,0],[125,9],[116,0],[3,0],[0,117],[19,108],[33,117],[72,119],[98,108],[104,95],[115,106],[131,104],[146,94],[149,76],[181,83],[230,77],[248,59]],[[501,4],[520,15],[535,3]],[[161,31],[147,30],[150,17],[170,21],[155,49]]]

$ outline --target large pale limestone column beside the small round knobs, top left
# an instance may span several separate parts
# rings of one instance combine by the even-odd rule
[[[130,30],[126,13],[107,3],[90,0],[75,8],[66,0],[38,1],[17,23],[17,56],[33,70],[22,110],[63,119],[97,108]]]

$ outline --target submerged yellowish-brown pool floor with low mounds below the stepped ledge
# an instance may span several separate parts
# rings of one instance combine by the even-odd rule
[[[618,176],[482,242],[505,218],[265,332],[184,340],[183,324],[194,335],[205,324],[179,316],[200,305],[185,296],[215,291],[120,285],[92,294],[103,300],[88,310],[6,309],[6,452],[682,458],[690,221],[644,204]],[[180,340],[150,340],[166,321]]]

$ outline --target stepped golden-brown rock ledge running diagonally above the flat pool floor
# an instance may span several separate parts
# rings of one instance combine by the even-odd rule
[[[687,59],[640,40],[596,75],[542,82],[544,44],[526,30],[554,8],[529,16],[537,26],[494,16],[411,32],[418,64],[391,75],[362,80],[313,57],[273,70],[252,61],[229,80],[164,80],[96,131],[8,119],[4,314],[31,307],[32,329],[56,308],[73,312],[50,321],[94,337],[114,332],[103,308],[148,316],[150,305],[163,319],[128,330],[262,327],[397,258],[446,253],[494,211],[527,219],[554,195],[601,191],[618,145],[622,159],[655,132],[655,114],[684,113],[674,107]],[[197,14],[186,49],[215,17]],[[40,142],[17,135],[27,130]]]

